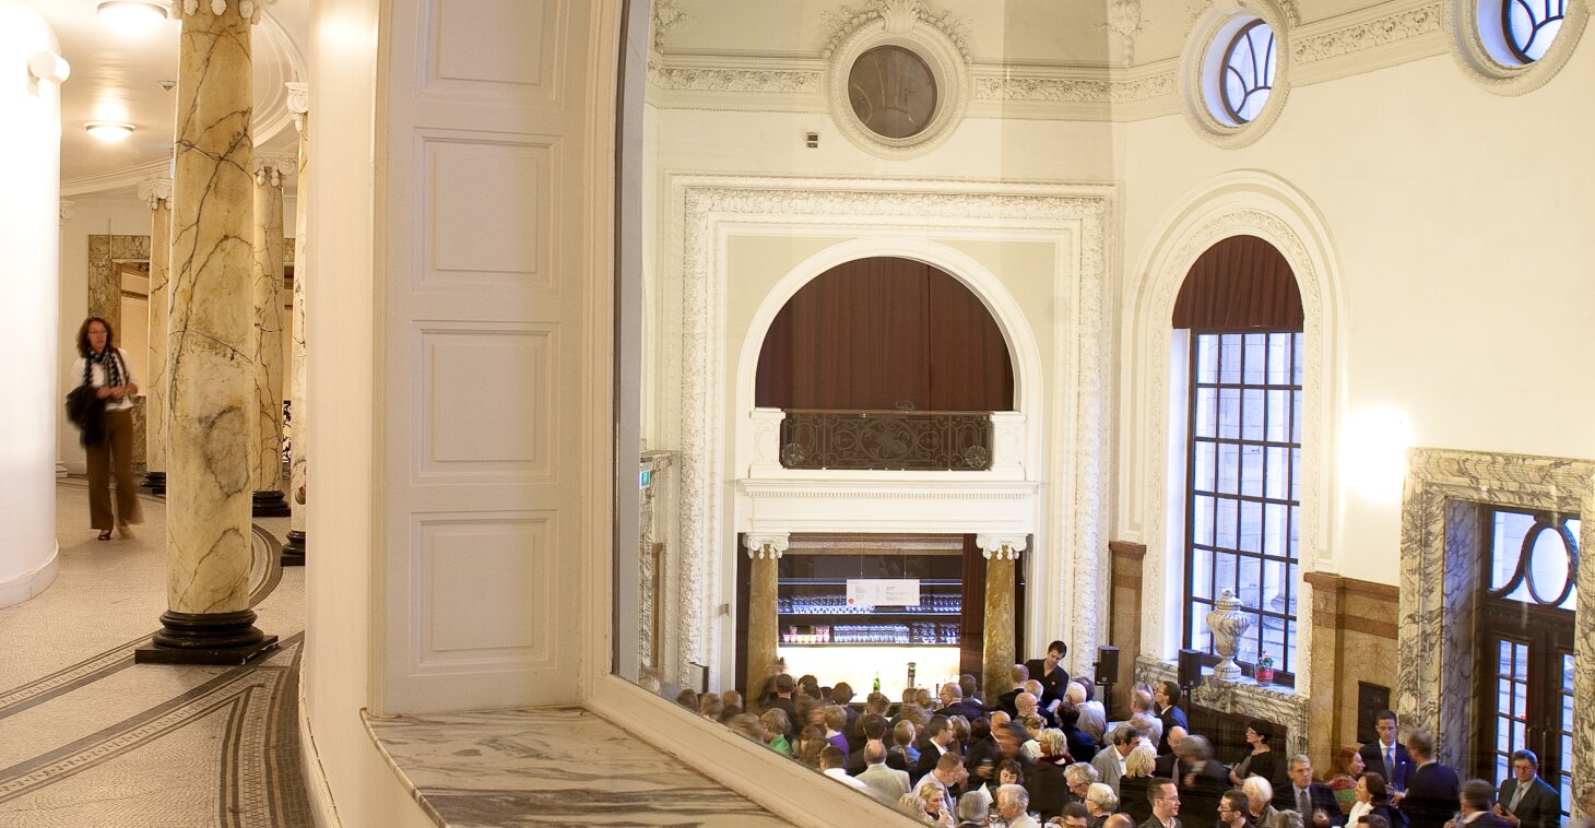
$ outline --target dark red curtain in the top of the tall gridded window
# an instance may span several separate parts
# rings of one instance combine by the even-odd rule
[[[1174,327],[1302,330],[1302,290],[1273,244],[1231,236],[1207,247],[1185,274]]]

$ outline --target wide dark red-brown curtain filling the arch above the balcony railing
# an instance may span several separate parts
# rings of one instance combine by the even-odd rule
[[[1008,412],[1013,364],[963,282],[924,262],[860,258],[821,273],[777,314],[754,404]]]

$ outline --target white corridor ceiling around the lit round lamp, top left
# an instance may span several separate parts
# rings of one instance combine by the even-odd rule
[[[120,190],[164,175],[172,155],[177,93],[175,21],[148,32],[118,30],[96,14],[99,0],[29,0],[61,40],[72,77],[61,86],[62,195]],[[279,0],[254,29],[255,145],[292,153],[293,123],[286,81],[306,80],[303,45],[311,0]],[[124,121],[128,140],[105,144],[83,129],[88,121]]]

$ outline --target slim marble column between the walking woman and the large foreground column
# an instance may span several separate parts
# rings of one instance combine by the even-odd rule
[[[166,495],[166,289],[172,266],[172,180],[139,185],[150,203],[150,349],[144,370],[144,488]]]

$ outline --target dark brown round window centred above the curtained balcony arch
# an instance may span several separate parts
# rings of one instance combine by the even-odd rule
[[[853,115],[885,139],[914,137],[936,115],[936,75],[925,59],[895,45],[876,46],[853,61],[847,73]]]

